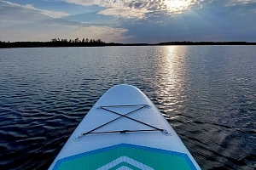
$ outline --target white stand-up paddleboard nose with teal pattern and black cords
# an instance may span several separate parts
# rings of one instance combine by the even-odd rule
[[[201,169],[138,88],[118,85],[84,116],[49,169]]]

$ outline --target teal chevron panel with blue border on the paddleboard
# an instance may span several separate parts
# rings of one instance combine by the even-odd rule
[[[112,167],[107,168],[109,163]],[[196,169],[186,154],[133,144],[118,144],[69,156],[58,161],[54,169],[97,169],[103,166],[106,169],[112,169],[113,167],[122,167],[122,165],[128,167],[127,164],[129,167],[137,167],[138,169],[143,169],[143,165],[152,169]]]

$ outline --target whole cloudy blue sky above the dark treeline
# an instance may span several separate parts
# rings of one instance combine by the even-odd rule
[[[256,0],[0,0],[1,41],[256,42]]]

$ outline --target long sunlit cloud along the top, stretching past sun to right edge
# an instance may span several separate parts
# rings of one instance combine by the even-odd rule
[[[147,20],[151,15],[166,14],[173,16],[189,10],[197,10],[212,4],[221,4],[222,7],[237,6],[242,11],[255,4],[255,0],[62,0],[83,6],[99,6],[105,9],[98,14],[112,15],[118,18]],[[254,5],[253,5],[254,6]],[[256,8],[249,8],[249,12],[256,12]],[[245,12],[244,12],[245,13]]]

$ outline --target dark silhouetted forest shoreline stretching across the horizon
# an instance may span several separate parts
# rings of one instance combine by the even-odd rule
[[[116,43],[103,42],[101,39],[60,39],[49,42],[2,42],[0,48],[57,48],[57,47],[106,47],[106,46],[160,46],[160,45],[256,45],[256,42],[160,42],[160,43]]]

